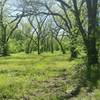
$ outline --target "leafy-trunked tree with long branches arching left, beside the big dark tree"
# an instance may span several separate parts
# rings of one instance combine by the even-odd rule
[[[70,18],[69,16],[72,16],[69,14],[69,9],[66,9],[66,7],[62,4],[62,2],[60,2],[60,5],[58,5],[58,12],[57,11],[54,11],[52,10],[52,8],[54,6],[57,7],[56,3],[52,3],[52,6],[46,2],[46,3],[42,3],[42,2],[38,2],[40,5],[44,6],[47,11],[46,12],[43,12],[43,11],[39,11],[37,12],[37,14],[46,14],[46,15],[52,15],[53,19],[54,19],[54,22],[56,23],[56,25],[58,27],[60,27],[61,29],[63,29],[64,31],[66,31],[66,36],[68,36],[70,38],[70,41],[72,40],[72,37],[74,41],[71,41],[71,45],[70,46],[70,51],[71,51],[71,59],[73,58],[77,58],[77,50],[76,50],[76,47],[74,46],[74,42],[77,41],[77,33],[79,32],[79,30],[77,30],[77,27],[76,27],[76,22],[75,20],[72,20],[72,17]],[[59,24],[59,20],[56,20],[56,18],[59,18],[60,20],[62,20],[62,22]],[[76,34],[76,35],[75,35]],[[73,42],[73,43],[72,43]]]

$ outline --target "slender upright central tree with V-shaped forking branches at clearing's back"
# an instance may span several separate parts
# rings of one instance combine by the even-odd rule
[[[35,17],[35,24],[34,25],[34,17]],[[44,16],[43,18],[41,16],[32,16],[29,18],[29,23],[30,25],[33,27],[34,31],[36,32],[37,35],[37,49],[38,49],[38,54],[40,54],[40,50],[41,50],[41,39],[44,37],[44,31],[45,28],[43,27],[46,19],[48,16]]]

